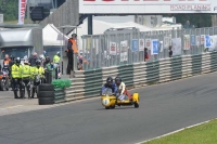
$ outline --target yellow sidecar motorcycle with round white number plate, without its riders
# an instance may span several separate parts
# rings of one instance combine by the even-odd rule
[[[130,106],[133,105],[135,108],[139,107],[139,93],[132,94],[132,101],[128,99],[127,95],[119,95],[112,93],[112,89],[105,89],[102,92],[101,96],[102,105],[105,107],[105,109],[114,109],[115,106]]]

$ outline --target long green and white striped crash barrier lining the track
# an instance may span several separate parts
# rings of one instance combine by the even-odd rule
[[[217,52],[184,55],[154,62],[143,62],[75,71],[72,87],[65,89],[65,101],[99,96],[105,79],[120,76],[127,88],[142,87],[217,70]]]

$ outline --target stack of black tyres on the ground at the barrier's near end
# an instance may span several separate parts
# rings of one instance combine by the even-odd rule
[[[54,87],[49,83],[38,86],[38,104],[51,105],[54,104]]]

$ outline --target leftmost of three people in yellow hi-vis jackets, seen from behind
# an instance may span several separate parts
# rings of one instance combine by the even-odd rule
[[[15,64],[12,65],[11,67],[11,76],[12,76],[12,81],[13,81],[13,91],[14,91],[14,99],[18,99],[17,91],[20,89],[21,93],[21,58],[17,57],[15,61]],[[16,87],[17,86],[17,87]]]

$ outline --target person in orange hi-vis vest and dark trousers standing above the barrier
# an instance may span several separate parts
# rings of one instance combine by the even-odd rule
[[[72,78],[71,71],[74,69],[74,54],[78,54],[78,48],[77,48],[77,35],[73,34],[72,38],[68,39],[67,44],[67,57],[68,57],[68,64],[67,64],[67,75],[69,75],[69,78]]]

